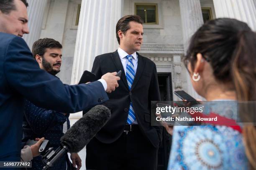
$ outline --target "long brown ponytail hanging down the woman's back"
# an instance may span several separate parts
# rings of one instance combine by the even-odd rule
[[[238,34],[239,43],[234,52],[231,67],[233,82],[237,91],[238,101],[256,101],[256,33],[243,31]],[[255,111],[251,112],[249,105],[240,105],[240,114],[244,122],[251,120]],[[256,169],[256,127],[246,125],[243,128],[244,145],[251,169]]]

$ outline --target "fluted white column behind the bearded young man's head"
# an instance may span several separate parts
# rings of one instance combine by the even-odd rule
[[[23,39],[28,47],[32,49],[33,43],[39,39],[43,24],[44,11],[47,0],[27,0],[28,2],[28,28],[29,34],[25,34]]]

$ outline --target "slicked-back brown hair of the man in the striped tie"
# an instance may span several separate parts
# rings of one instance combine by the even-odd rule
[[[138,15],[126,15],[126,16],[120,18],[120,20],[118,20],[118,23],[116,24],[116,27],[115,27],[115,34],[116,34],[116,38],[118,40],[118,44],[120,44],[120,38],[118,36],[118,31],[121,30],[123,32],[123,34],[125,34],[125,32],[130,29],[129,22],[131,22],[131,21],[134,21],[139,24],[143,24],[143,20]]]

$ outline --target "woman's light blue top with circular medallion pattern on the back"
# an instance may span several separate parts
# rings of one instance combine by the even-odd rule
[[[236,120],[236,114],[225,114],[237,108],[236,102],[216,101],[204,107],[204,114]],[[242,140],[242,134],[228,126],[174,126],[168,170],[247,170]]]

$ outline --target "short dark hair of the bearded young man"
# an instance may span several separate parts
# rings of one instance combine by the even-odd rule
[[[36,42],[34,42],[32,47],[32,54],[33,57],[36,58],[36,55],[44,56],[44,53],[46,52],[46,48],[62,48],[62,45],[59,43],[59,41],[56,41],[52,38],[43,38],[39,39]]]

